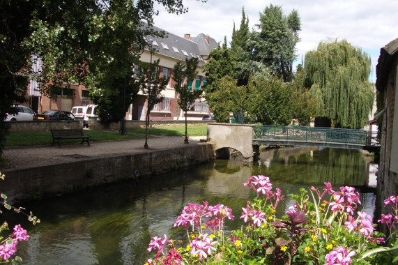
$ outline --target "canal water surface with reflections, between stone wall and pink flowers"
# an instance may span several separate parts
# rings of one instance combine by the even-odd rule
[[[144,264],[151,236],[185,238],[181,229],[172,226],[188,202],[229,206],[235,218],[226,229],[239,228],[241,208],[256,196],[242,183],[255,174],[269,176],[273,187],[285,195],[311,185],[322,188],[325,181],[335,188],[355,185],[365,211],[373,215],[376,197],[372,189],[363,187],[369,183],[366,174],[370,171],[359,151],[277,149],[261,153],[252,165],[239,159],[217,160],[139,183],[118,183],[24,204],[42,223],[23,224],[31,239],[21,244],[19,255],[24,264]],[[292,204],[286,196],[277,214]]]

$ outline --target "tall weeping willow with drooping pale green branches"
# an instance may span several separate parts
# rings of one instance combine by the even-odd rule
[[[305,55],[305,86],[318,99],[317,116],[335,126],[362,128],[369,117],[374,91],[369,82],[370,56],[346,40],[321,42]]]

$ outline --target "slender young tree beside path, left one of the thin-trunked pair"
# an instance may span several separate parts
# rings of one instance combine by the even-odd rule
[[[166,89],[169,84],[169,78],[160,77],[158,69],[160,59],[152,62],[151,50],[151,63],[140,63],[139,68],[139,89],[146,95],[146,115],[145,115],[145,144],[144,148],[148,149],[148,127],[149,116],[155,104],[161,103],[163,97],[160,92]]]

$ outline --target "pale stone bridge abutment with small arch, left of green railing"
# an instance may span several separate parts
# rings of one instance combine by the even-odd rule
[[[215,150],[233,148],[242,153],[245,160],[253,161],[253,128],[245,124],[208,123],[207,142],[215,144]]]

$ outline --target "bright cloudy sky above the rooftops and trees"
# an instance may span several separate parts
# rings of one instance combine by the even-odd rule
[[[281,6],[284,15],[293,9],[301,20],[300,42],[296,45],[297,63],[306,52],[316,50],[321,41],[346,39],[372,58],[371,82],[376,81],[376,64],[380,49],[398,38],[397,0],[183,0],[188,13],[169,14],[160,9],[155,26],[183,37],[208,34],[217,42],[231,42],[234,22],[236,29],[242,19],[242,8],[249,18],[250,30],[258,30],[259,13],[270,4]]]

